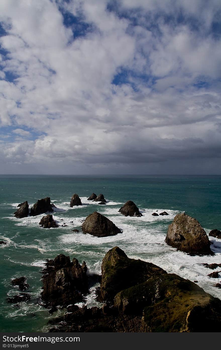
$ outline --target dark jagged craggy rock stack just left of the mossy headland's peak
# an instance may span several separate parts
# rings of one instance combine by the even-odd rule
[[[54,260],[46,262],[43,273],[43,291],[41,293],[45,307],[69,304],[83,301],[82,293],[88,291],[87,266],[82,266],[77,259],[64,254],[58,255]]]

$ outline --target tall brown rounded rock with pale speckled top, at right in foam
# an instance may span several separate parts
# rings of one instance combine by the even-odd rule
[[[209,238],[200,223],[186,215],[177,214],[168,226],[165,242],[192,255],[211,255]]]

